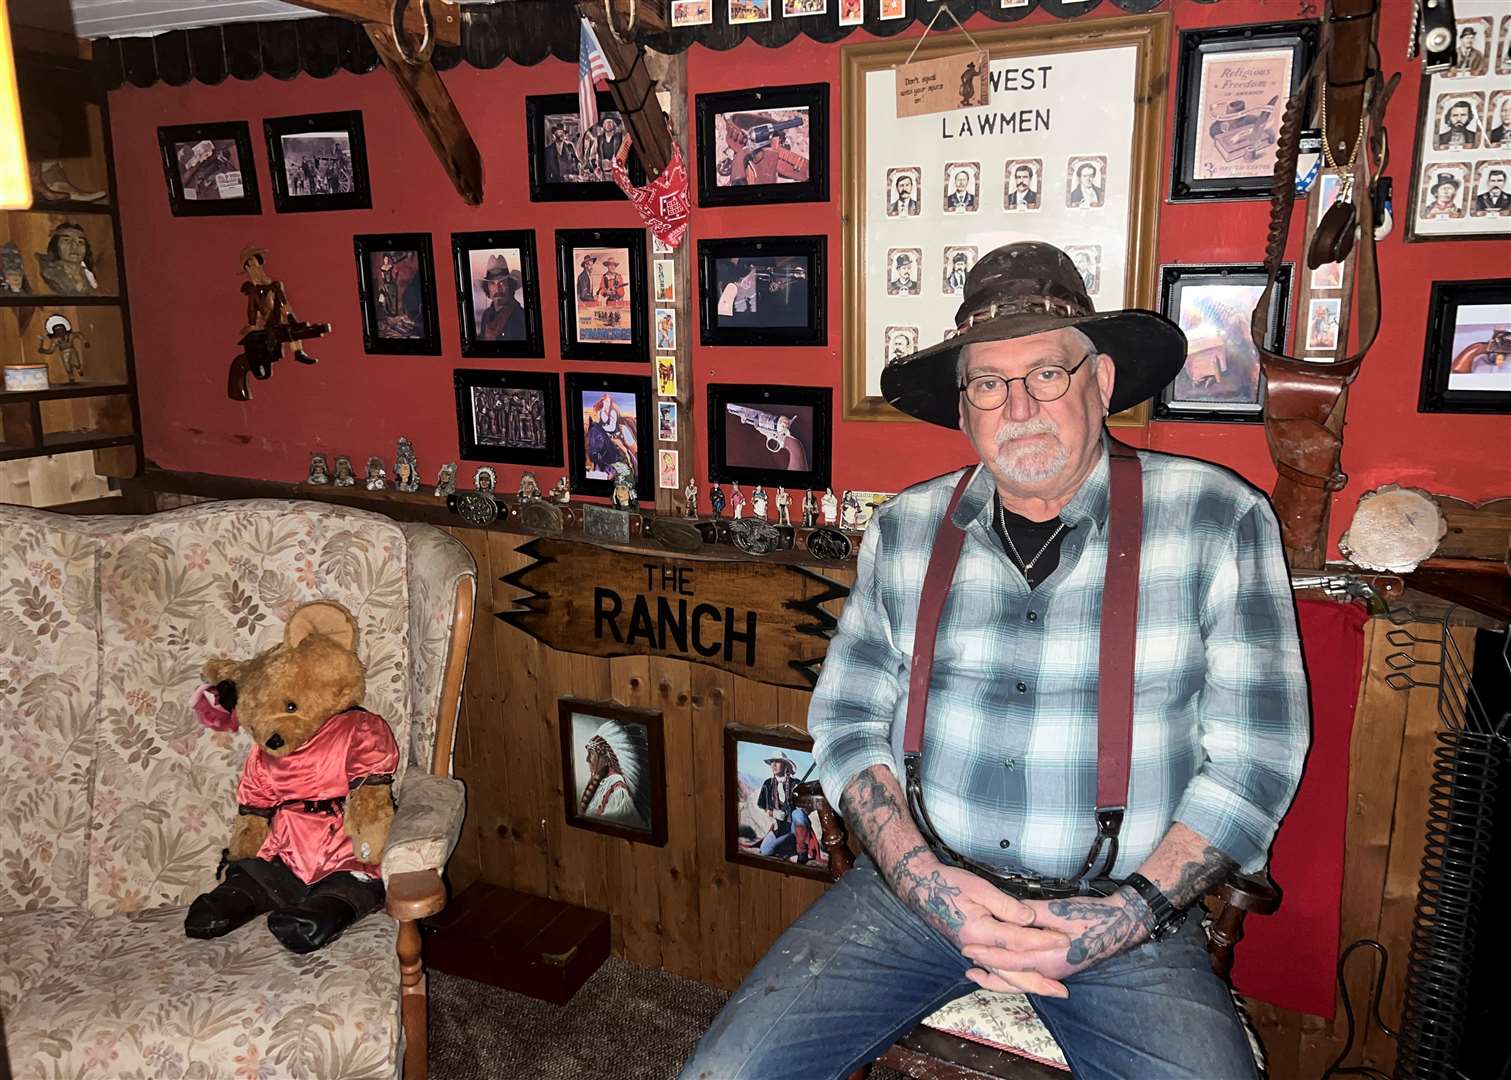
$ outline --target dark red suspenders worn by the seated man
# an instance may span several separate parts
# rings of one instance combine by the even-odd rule
[[[1118,856],[1118,832],[1127,808],[1129,764],[1133,754],[1133,656],[1138,628],[1138,568],[1139,541],[1144,532],[1144,482],[1138,455],[1132,447],[1108,440],[1111,450],[1111,495],[1108,508],[1108,574],[1102,598],[1102,645],[1097,669],[1097,838],[1085,864],[1074,878],[1044,882],[1046,887],[1068,887],[1083,879],[1097,862],[1103,844],[1106,856],[1097,876],[1106,878]],[[908,804],[914,822],[931,840],[958,862],[985,870],[949,850],[937,837],[923,807],[919,761],[923,755],[923,725],[928,713],[929,681],[934,674],[934,643],[938,637],[944,598],[955,577],[955,565],[966,542],[966,533],[955,524],[955,508],[970,485],[975,470],[967,471],[950,495],[944,520],[934,538],[934,550],[923,574],[919,598],[917,627],[913,634],[913,668],[908,675],[908,716],[902,736],[902,758],[907,770]],[[1017,882],[1023,884],[1023,882]]]

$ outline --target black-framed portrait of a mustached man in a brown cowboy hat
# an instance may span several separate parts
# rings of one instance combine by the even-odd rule
[[[464,356],[544,356],[535,230],[452,233]]]

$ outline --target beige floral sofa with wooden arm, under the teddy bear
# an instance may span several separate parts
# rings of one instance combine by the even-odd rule
[[[425,1075],[416,920],[461,831],[452,740],[476,569],[431,526],[319,503],[148,517],[0,508],[0,1020],[20,1078]],[[184,937],[215,881],[245,733],[198,724],[213,656],[328,598],[406,748],[388,914],[293,955],[263,920]]]

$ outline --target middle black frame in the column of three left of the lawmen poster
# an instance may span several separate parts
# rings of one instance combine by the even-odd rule
[[[719,314],[719,301],[725,289],[734,285],[721,273],[721,263],[728,260],[805,258],[805,323],[790,326],[762,326],[740,320],[739,311]],[[828,237],[825,236],[774,236],[774,237],[725,237],[698,240],[698,340],[701,344],[762,344],[804,346],[827,344],[825,282],[828,263]],[[759,269],[757,269],[759,284]],[[734,285],[737,289],[737,285]],[[757,290],[754,302],[762,296],[774,296],[769,289]],[[734,305],[740,304],[734,299]]]

